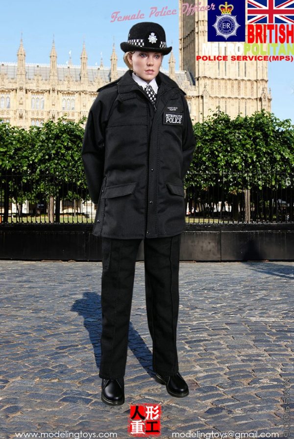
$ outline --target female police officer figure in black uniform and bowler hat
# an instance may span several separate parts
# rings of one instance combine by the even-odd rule
[[[109,405],[124,402],[135,263],[142,239],[155,379],[172,396],[189,393],[178,369],[176,326],[183,180],[195,148],[193,127],[185,93],[159,72],[163,55],[172,50],[162,26],[135,24],[121,49],[130,70],[98,89],[82,148],[89,192],[97,204],[93,234],[101,237],[99,376],[102,401]]]

